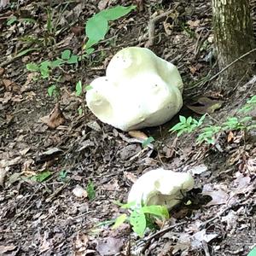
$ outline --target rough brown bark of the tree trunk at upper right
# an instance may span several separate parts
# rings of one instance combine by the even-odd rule
[[[223,69],[253,49],[249,0],[212,0],[212,20],[218,67]],[[240,79],[250,67],[248,61],[253,61],[253,54],[228,68],[222,79],[225,82]]]

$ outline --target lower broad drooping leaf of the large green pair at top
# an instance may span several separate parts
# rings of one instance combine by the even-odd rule
[[[89,40],[85,44],[86,49],[89,49],[92,45],[104,39],[107,32],[108,20],[102,17],[102,15],[94,15],[89,20],[87,20],[85,33]]]

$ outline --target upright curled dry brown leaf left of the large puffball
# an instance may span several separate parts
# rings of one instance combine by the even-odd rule
[[[46,115],[40,119],[49,128],[55,129],[59,125],[63,125],[66,121],[63,113],[61,112],[60,103],[56,103],[55,108],[49,115]]]

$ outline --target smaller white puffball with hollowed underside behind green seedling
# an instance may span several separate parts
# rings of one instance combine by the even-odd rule
[[[132,185],[128,203],[135,207],[160,205],[171,209],[187,191],[193,189],[194,178],[189,172],[172,172],[162,168],[146,172]]]

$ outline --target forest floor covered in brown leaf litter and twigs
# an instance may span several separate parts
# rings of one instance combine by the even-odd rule
[[[57,67],[38,80],[26,64],[53,61],[64,49],[79,55],[85,21],[110,3],[131,2],[12,2],[0,7],[0,255],[247,255],[256,245],[255,131],[222,132],[213,145],[196,144],[196,132],[168,132],[177,114],[143,130],[155,139],[154,148],[143,148],[140,138],[103,124],[88,108],[79,115],[84,100],[75,93],[80,79],[90,84],[102,76],[119,49],[151,44],[181,73],[179,114],[199,119],[198,108],[195,113],[188,106],[207,96],[221,105],[208,124],[236,116],[256,94],[256,83],[232,84],[225,94],[210,90],[216,80],[207,81],[218,72],[211,1],[137,1],[143,9],[111,22],[106,40],[82,64]],[[152,44],[148,21],[167,11],[154,24]],[[61,112],[48,95],[52,84],[60,88]],[[55,119],[49,119],[54,108]],[[148,230],[143,239],[128,224],[111,229],[108,220],[124,211],[115,201],[125,202],[136,178],[159,166],[193,173],[192,204],[172,210],[162,232]],[[75,188],[82,188],[82,197]]]

